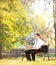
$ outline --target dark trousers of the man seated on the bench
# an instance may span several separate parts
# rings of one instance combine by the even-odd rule
[[[29,50],[25,50],[25,55],[26,55],[27,60],[35,61],[35,54],[38,53],[38,52],[41,52],[41,49],[29,49]]]

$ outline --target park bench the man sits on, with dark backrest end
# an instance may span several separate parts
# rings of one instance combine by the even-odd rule
[[[49,60],[49,44],[41,46],[41,52],[36,53],[36,55],[39,55],[39,54],[43,55],[44,60],[45,60],[45,57],[47,55],[48,60]],[[24,53],[22,53],[22,61],[23,61],[24,57],[25,57],[25,49],[24,49]]]

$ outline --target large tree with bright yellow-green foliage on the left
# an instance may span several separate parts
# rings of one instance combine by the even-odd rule
[[[0,46],[2,49],[13,48],[14,42],[28,35],[31,31],[29,21],[27,11],[19,0],[0,0]]]

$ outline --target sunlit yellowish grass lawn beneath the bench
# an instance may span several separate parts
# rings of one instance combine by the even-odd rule
[[[56,65],[56,60],[36,59],[36,61],[27,61],[24,59],[22,62],[21,59],[1,59],[0,65]]]

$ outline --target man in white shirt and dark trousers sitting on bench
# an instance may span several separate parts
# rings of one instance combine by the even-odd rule
[[[35,42],[34,42],[33,47],[31,49],[25,50],[25,55],[26,55],[27,60],[35,61],[35,54],[38,52],[41,52],[42,45],[45,45],[45,42],[40,38],[40,34],[37,33],[35,35]],[[30,54],[31,54],[31,56],[30,56]]]

